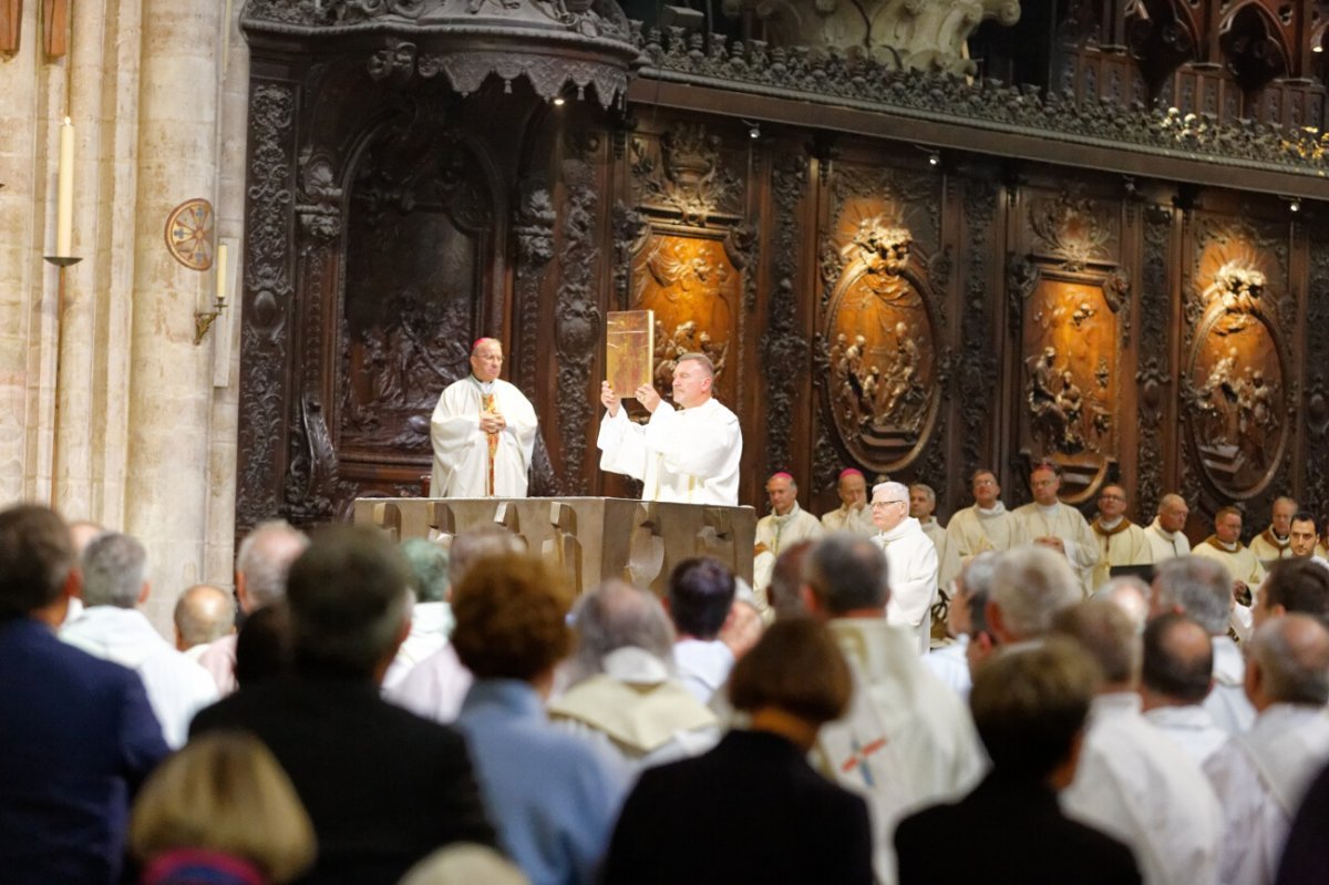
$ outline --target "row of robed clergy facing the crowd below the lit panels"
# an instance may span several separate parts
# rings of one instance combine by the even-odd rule
[[[1003,551],[1022,543],[1049,546],[1067,558],[1086,597],[1106,585],[1116,567],[1147,567],[1191,553],[1216,559],[1233,574],[1233,589],[1243,603],[1232,615],[1239,638],[1249,637],[1251,594],[1264,579],[1268,563],[1312,558],[1329,569],[1314,516],[1286,497],[1275,501],[1271,525],[1249,546],[1241,543],[1241,512],[1223,508],[1215,516],[1213,534],[1192,550],[1184,534],[1189,508],[1180,496],[1163,496],[1155,520],[1142,526],[1126,516],[1130,505],[1126,489],[1110,482],[1102,486],[1098,514],[1090,521],[1059,500],[1059,468],[1053,462],[1034,465],[1030,473],[1034,501],[1013,512],[999,500],[995,474],[986,469],[975,472],[974,504],[957,512],[946,526],[933,517],[937,500],[928,485],[880,482],[869,501],[867,480],[851,468],[840,474],[836,488],[841,506],[817,520],[799,506],[797,484],[791,474],[776,473],[767,481],[771,512],[758,521],[754,547],[759,607],[766,611],[766,591],[783,550],[815,541],[828,530],[855,532],[874,538],[892,561],[896,595],[890,619],[917,630],[921,652],[932,644],[929,613],[938,599],[945,597],[949,602],[961,567],[985,550]],[[930,550],[918,543],[921,536],[932,541]]]

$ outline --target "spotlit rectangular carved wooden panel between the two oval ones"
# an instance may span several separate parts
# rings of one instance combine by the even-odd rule
[[[1062,496],[1083,501],[1118,460],[1122,339],[1130,284],[1116,268],[1116,223],[1083,195],[1034,195],[1033,251],[1007,266],[1021,356],[1021,446],[1063,472]]]

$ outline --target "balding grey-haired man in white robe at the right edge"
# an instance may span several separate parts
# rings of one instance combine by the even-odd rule
[[[1223,803],[1224,884],[1275,880],[1292,816],[1329,761],[1326,667],[1329,631],[1308,615],[1271,621],[1251,640],[1247,694],[1259,716],[1205,764]]]

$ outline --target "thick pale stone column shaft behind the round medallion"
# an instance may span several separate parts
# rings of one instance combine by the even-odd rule
[[[207,529],[211,348],[194,344],[194,311],[210,303],[213,274],[171,258],[162,231],[178,203],[217,191],[223,8],[142,3],[125,529],[149,549],[158,629],[201,578]]]

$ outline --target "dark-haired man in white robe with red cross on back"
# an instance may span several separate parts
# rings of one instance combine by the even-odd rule
[[[867,799],[873,869],[892,885],[901,817],[968,793],[987,759],[964,702],[922,664],[914,637],[882,618],[889,571],[876,545],[831,534],[808,557],[808,610],[829,619],[853,675],[849,712],[821,727],[812,759]]]

